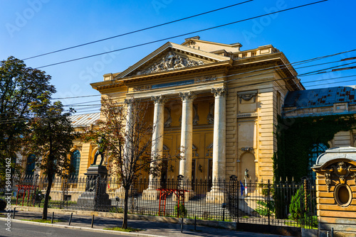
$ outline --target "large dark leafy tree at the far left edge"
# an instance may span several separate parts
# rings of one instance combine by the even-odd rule
[[[23,61],[9,57],[0,62],[0,182],[5,180],[5,160],[16,161],[23,137],[28,132],[28,121],[32,114],[29,106],[46,94],[56,92],[49,84],[51,76],[41,70],[26,67]],[[12,162],[13,170],[20,165]],[[2,185],[1,185],[2,186]]]

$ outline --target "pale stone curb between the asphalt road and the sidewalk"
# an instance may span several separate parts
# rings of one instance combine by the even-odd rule
[[[6,218],[0,217],[0,220],[6,221]],[[24,224],[30,224],[30,225],[37,225],[37,226],[51,226],[51,227],[56,227],[56,228],[71,228],[75,230],[82,230],[82,231],[91,231],[91,232],[97,232],[97,233],[110,233],[114,234],[117,236],[137,236],[137,237],[162,237],[162,236],[155,236],[147,233],[131,233],[131,232],[124,232],[124,231],[110,231],[110,230],[103,230],[100,228],[89,228],[89,227],[81,227],[81,226],[64,226],[60,224],[47,224],[47,223],[40,223],[40,222],[34,222],[34,221],[21,221],[21,220],[16,220],[16,219],[11,219],[11,222],[22,222]]]

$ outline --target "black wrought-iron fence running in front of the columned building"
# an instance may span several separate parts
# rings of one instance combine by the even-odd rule
[[[12,202],[43,206],[47,186],[46,178],[25,177]],[[55,178],[48,207],[122,213],[124,193],[115,178]],[[308,180],[252,182],[235,176],[229,180],[137,179],[129,190],[128,212],[236,224],[318,227],[315,187]]]

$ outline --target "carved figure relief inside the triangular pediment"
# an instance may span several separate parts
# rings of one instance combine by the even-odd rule
[[[166,56],[162,57],[162,60],[155,62],[153,65],[146,68],[145,70],[138,71],[136,75],[150,74],[153,72],[163,72],[167,70],[174,70],[203,64],[204,62],[201,60],[189,60],[188,58],[173,53],[171,51]]]

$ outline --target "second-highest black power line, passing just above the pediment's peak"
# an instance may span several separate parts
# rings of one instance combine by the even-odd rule
[[[52,64],[49,64],[49,65],[36,67],[36,69],[43,68],[43,67],[51,67],[51,66],[54,66],[54,65],[60,65],[60,64],[66,63],[66,62],[73,62],[73,61],[83,60],[85,58],[95,57],[95,56],[99,56],[99,55],[105,55],[107,53],[114,53],[114,52],[117,52],[117,51],[127,50],[127,49],[130,49],[130,48],[137,48],[137,47],[140,47],[140,46],[143,46],[143,45],[150,45],[152,43],[158,43],[158,42],[162,42],[162,41],[165,41],[165,40],[171,40],[173,38],[178,38],[178,37],[182,37],[182,36],[185,36],[185,35],[191,35],[193,33],[209,31],[209,30],[212,30],[212,29],[215,29],[215,28],[221,28],[223,26],[229,26],[229,25],[232,25],[232,24],[235,24],[235,23],[241,23],[241,22],[249,21],[249,20],[256,19],[256,18],[261,18],[263,16],[268,16],[268,15],[272,15],[272,14],[275,14],[275,13],[280,13],[280,12],[283,12],[283,11],[290,11],[290,10],[293,10],[293,9],[299,9],[301,7],[304,7],[304,6],[310,6],[310,5],[313,5],[313,4],[320,4],[320,3],[324,2],[324,1],[328,1],[328,0],[315,1],[315,2],[310,3],[310,4],[294,6],[294,7],[289,8],[289,9],[284,9],[284,10],[280,10],[280,11],[274,11],[273,13],[266,13],[266,14],[263,14],[263,15],[260,15],[260,16],[253,16],[251,18],[245,18],[243,20],[234,21],[234,22],[231,22],[231,23],[226,23],[226,24],[223,24],[223,25],[214,26],[214,27],[210,27],[210,28],[205,28],[205,29],[199,30],[199,31],[192,31],[190,33],[184,33],[184,34],[181,34],[181,35],[175,35],[175,36],[168,37],[168,38],[163,38],[163,39],[160,39],[160,40],[153,40],[153,41],[150,41],[150,42],[147,42],[147,43],[141,43],[141,44],[138,44],[138,45],[132,45],[132,46],[128,46],[128,47],[125,47],[125,48],[120,48],[120,49],[117,49],[117,50],[111,50],[111,51],[108,51],[108,52],[105,52],[105,53],[97,53],[95,55],[88,55],[88,56],[85,56],[85,57],[78,57],[78,58],[75,58],[73,60],[66,60],[66,61],[62,61],[62,62],[56,62],[56,63],[52,63]]]

